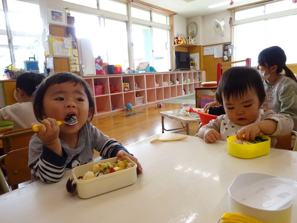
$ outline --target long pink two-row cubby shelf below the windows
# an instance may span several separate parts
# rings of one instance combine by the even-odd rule
[[[195,87],[200,87],[201,83],[206,81],[205,70],[88,75],[83,78],[90,85],[93,93],[95,93],[95,84],[104,86],[101,95],[94,95],[96,106],[94,115],[126,109],[127,103],[131,103],[132,107],[135,107],[183,95],[192,95],[195,94]],[[176,84],[177,80],[179,84]],[[170,85],[170,81],[173,81],[173,85]],[[130,91],[124,91],[123,82],[129,84]],[[163,86],[163,82],[167,82],[168,85]],[[135,83],[141,88],[140,90],[135,90]],[[110,84],[113,89],[110,88]],[[110,90],[119,92],[111,93]],[[142,104],[136,104],[136,95],[143,97]]]

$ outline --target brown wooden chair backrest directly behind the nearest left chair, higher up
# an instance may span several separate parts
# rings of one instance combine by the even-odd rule
[[[4,153],[7,154],[12,150],[29,147],[30,139],[34,134],[35,132],[32,128],[5,132],[2,136],[0,136],[0,139],[2,139]]]

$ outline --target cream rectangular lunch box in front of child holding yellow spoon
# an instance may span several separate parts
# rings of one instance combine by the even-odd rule
[[[91,171],[91,167],[94,164],[105,162],[116,163],[117,159],[117,157],[113,157],[73,168],[71,172],[73,181],[72,183],[67,183],[67,190],[74,192],[74,190],[71,191],[71,189],[73,189],[76,185],[78,196],[81,198],[89,198],[134,184],[137,180],[137,164],[126,156],[123,157],[123,160],[128,160],[128,163],[132,163],[133,167],[88,180],[78,180],[78,177],[83,176],[88,171]],[[69,185],[69,183],[71,184]]]

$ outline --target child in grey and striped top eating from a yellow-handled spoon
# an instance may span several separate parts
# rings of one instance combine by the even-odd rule
[[[129,157],[142,172],[137,159],[116,140],[94,127],[94,101],[89,85],[73,73],[57,73],[47,77],[34,93],[34,114],[42,125],[29,145],[29,167],[32,180],[57,182],[65,169],[92,161],[94,151],[106,158]],[[77,117],[75,125],[58,125],[67,115]]]

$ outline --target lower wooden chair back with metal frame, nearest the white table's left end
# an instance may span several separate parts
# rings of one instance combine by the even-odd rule
[[[31,180],[31,169],[29,163],[29,147],[13,150],[0,157],[4,161],[7,173],[7,181],[0,168],[0,185],[4,193],[18,189],[18,184]],[[11,189],[10,187],[11,186]]]

